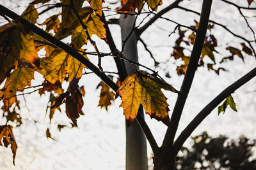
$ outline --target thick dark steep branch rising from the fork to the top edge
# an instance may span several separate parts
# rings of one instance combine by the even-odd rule
[[[198,31],[196,32],[195,45],[191,52],[191,57],[189,59],[188,68],[182,82],[180,92],[173,108],[172,118],[170,121],[170,126],[168,127],[166,134],[164,136],[163,146],[172,146],[173,139],[175,137],[177,127],[179,125],[180,116],[186,103],[190,87],[193,82],[196,68],[198,66],[198,60],[202,52],[202,47],[204,45],[204,38],[208,27],[209,16],[211,11],[212,0],[204,0],[202,4],[202,15],[200,17]]]

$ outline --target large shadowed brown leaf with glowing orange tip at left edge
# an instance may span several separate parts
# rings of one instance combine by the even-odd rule
[[[35,63],[38,55],[29,32],[21,25],[10,22],[0,27],[0,83],[20,59]]]

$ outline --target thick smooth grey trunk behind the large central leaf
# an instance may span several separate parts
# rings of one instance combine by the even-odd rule
[[[122,33],[122,41],[127,38],[131,32],[132,25],[134,23],[134,16],[122,15],[120,17],[120,27]],[[134,62],[138,62],[138,50],[137,50],[138,38],[135,33],[132,33],[129,39],[125,42],[123,54],[124,56]],[[136,67],[138,68],[138,67]],[[134,67],[129,62],[125,62],[125,69],[128,74],[134,73]],[[139,110],[143,113],[143,108],[140,106]],[[126,127],[126,170],[147,170],[147,141],[143,131],[140,128],[138,122],[134,123],[130,127]]]

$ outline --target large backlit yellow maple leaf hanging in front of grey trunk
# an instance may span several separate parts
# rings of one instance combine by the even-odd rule
[[[161,120],[164,124],[169,125],[169,108],[161,88],[177,92],[172,85],[143,71],[127,76],[116,91],[116,96],[122,96],[120,107],[124,108],[128,125],[134,122],[140,104],[151,118],[156,118],[156,120]]]

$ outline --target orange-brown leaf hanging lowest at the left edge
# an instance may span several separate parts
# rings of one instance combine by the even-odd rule
[[[13,165],[15,165],[15,155],[18,146],[13,136],[12,127],[10,125],[0,126],[0,145],[3,146],[3,144],[6,148],[8,145],[11,145],[11,150],[13,153]]]

